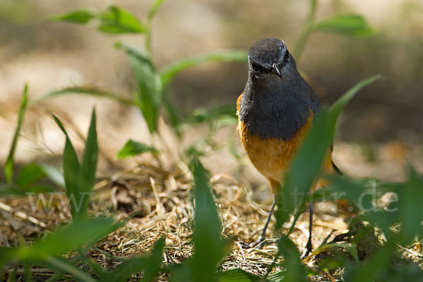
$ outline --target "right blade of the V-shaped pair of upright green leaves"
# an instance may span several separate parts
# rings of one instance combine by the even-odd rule
[[[88,130],[87,142],[85,142],[85,152],[82,159],[82,166],[78,173],[78,192],[87,193],[81,198],[81,207],[78,216],[86,216],[88,204],[90,202],[90,192],[95,182],[97,171],[97,160],[99,157],[99,147],[97,143],[95,109],[92,110],[90,129]]]

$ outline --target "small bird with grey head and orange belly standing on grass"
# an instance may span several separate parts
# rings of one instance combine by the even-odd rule
[[[237,100],[238,133],[250,161],[269,180],[274,201],[258,240],[247,247],[264,241],[281,179],[319,109],[319,97],[302,78],[283,40],[269,37],[252,44],[247,83]],[[325,171],[338,171],[331,150],[323,166]],[[312,250],[312,204],[309,211],[307,253]]]

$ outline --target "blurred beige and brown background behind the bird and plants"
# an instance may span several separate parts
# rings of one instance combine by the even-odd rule
[[[16,127],[25,82],[29,98],[75,85],[92,85],[130,98],[134,80],[116,41],[142,47],[141,35],[104,35],[87,26],[48,21],[75,10],[104,11],[116,4],[144,19],[150,0],[1,0],[0,1],[0,159],[4,160]],[[321,0],[316,21],[357,13],[376,34],[348,37],[313,32],[297,61],[324,104],[331,104],[357,81],[380,73],[383,80],[364,88],[338,123],[335,159],[353,176],[403,179],[403,162],[423,171],[423,1]],[[152,22],[152,56],[157,68],[215,51],[244,49],[264,37],[279,37],[293,49],[309,11],[309,1],[165,0]],[[189,68],[171,84],[174,104],[185,111],[235,104],[247,79],[246,63],[214,62]],[[19,140],[16,159],[51,161],[60,156],[64,137],[49,112],[65,118],[71,137],[82,148],[95,105],[98,113],[103,169],[126,140],[154,145],[136,107],[94,97],[68,95],[31,107]],[[162,122],[161,122],[162,123]],[[166,129],[166,128],[165,128]],[[202,126],[183,128],[183,143],[204,135]],[[168,141],[172,144],[171,132]],[[79,138],[79,139],[78,139]],[[236,140],[235,125],[216,131],[216,144]],[[78,145],[79,140],[79,145]],[[235,141],[234,141],[235,142]],[[214,173],[239,173],[253,186],[265,183],[235,142],[237,160],[226,148],[209,150],[205,162]],[[60,158],[57,159],[60,161]],[[133,159],[113,166],[134,164]]]

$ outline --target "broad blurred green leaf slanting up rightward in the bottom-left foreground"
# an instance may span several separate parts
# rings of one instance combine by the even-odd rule
[[[79,248],[90,241],[109,233],[114,220],[108,218],[80,219],[47,235],[44,240],[35,242],[32,247],[19,247],[16,258],[22,260],[42,260],[48,256],[62,254]]]

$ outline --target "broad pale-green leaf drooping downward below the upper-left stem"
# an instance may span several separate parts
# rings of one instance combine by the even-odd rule
[[[128,55],[138,85],[134,100],[147,122],[149,132],[154,133],[157,130],[157,118],[162,102],[159,73],[155,70],[148,51],[126,44],[118,44],[117,46],[124,49]]]

